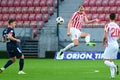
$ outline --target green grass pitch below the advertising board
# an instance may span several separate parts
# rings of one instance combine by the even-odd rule
[[[8,59],[0,59],[0,67]],[[109,67],[102,60],[25,59],[26,75],[18,75],[17,60],[3,73],[0,80],[111,80]],[[120,65],[120,61],[115,63]],[[114,80],[120,80],[116,75]]]

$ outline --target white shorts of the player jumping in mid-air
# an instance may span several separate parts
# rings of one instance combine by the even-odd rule
[[[82,33],[79,29],[76,29],[74,27],[72,27],[70,29],[70,32],[71,32],[70,38],[71,38],[72,41],[75,40],[75,39],[79,39],[79,37],[81,36],[81,33]]]

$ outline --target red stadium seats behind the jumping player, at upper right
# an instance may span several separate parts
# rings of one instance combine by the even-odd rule
[[[102,24],[105,25],[109,21],[109,14],[116,13],[118,18],[116,22],[120,25],[118,17],[120,15],[120,0],[84,0],[83,6],[88,14],[88,19],[91,19],[91,16],[93,16],[92,19],[99,18],[100,24],[103,22]]]

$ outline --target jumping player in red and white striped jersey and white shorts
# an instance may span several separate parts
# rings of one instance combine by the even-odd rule
[[[84,7],[79,6],[78,11],[76,11],[71,17],[68,23],[67,35],[71,38],[72,43],[68,44],[64,49],[58,52],[58,55],[72,47],[79,45],[79,38],[85,38],[87,46],[95,46],[95,43],[90,42],[90,34],[86,32],[81,32],[83,24],[89,24],[92,22],[98,22],[98,19],[88,20],[87,15],[84,12]]]

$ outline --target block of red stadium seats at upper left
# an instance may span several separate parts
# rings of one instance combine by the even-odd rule
[[[15,18],[17,27],[30,27],[40,21],[41,28],[49,21],[56,7],[57,0],[0,0],[0,26]]]

